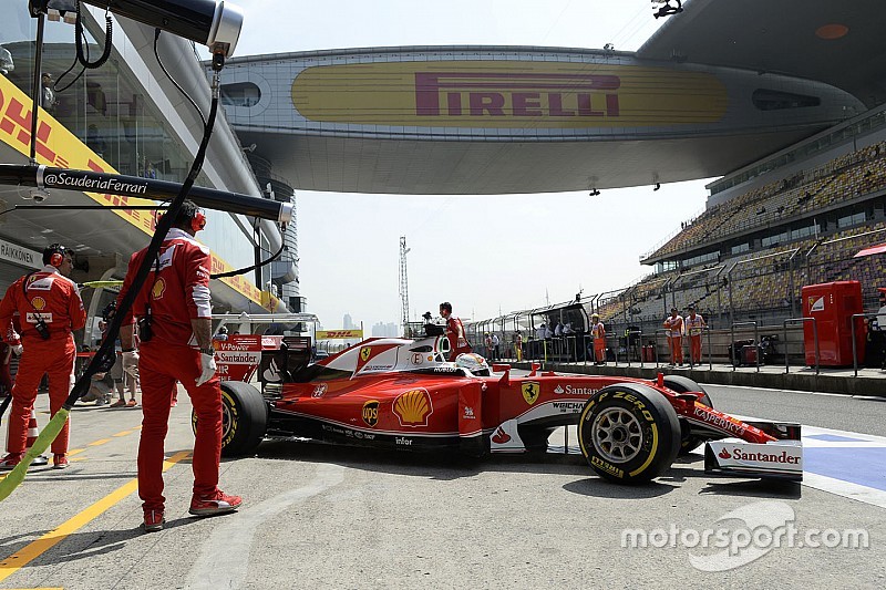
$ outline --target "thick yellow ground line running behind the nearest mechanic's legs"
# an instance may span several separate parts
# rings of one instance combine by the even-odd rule
[[[182,451],[176,453],[168,459],[163,462],[163,470],[168,470],[176,463],[187,458],[190,455],[189,451]],[[30,545],[16,551],[4,560],[0,561],[0,582],[19,571],[21,568],[45,553],[58,544],[63,541],[70,535],[73,535],[85,525],[107,511],[111,507],[125,499],[133,491],[138,488],[138,479],[131,479],[123,486],[119,487],[104,498],[100,499],[85,510],[69,518],[65,522],[58,528],[47,532],[39,539],[32,541]]]

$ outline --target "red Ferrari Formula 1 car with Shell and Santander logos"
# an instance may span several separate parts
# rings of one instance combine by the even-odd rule
[[[544,451],[578,425],[590,467],[619,483],[648,482],[681,452],[705,445],[709,473],[802,479],[800,425],[742,422],[677,375],[657,380],[539,372],[515,376],[475,354],[446,362],[449,341],[370,339],[310,363],[305,338],[233,337],[217,344],[223,454],[266,437],[308,437],[390,449],[471,455]],[[246,383],[258,372],[261,391]]]

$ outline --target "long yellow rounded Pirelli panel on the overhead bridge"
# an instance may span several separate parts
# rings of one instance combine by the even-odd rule
[[[308,68],[292,82],[292,104],[317,122],[629,128],[717,122],[728,95],[712,74],[669,68],[440,61]]]

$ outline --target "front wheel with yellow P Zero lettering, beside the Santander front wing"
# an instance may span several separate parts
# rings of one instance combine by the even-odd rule
[[[668,400],[648,385],[617,383],[585,404],[578,445],[590,467],[620,484],[664,473],[680,451],[680,422]]]

